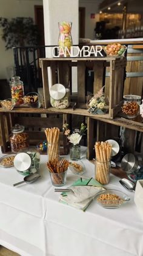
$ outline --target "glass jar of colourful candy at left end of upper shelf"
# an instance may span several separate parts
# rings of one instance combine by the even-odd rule
[[[20,80],[20,76],[13,76],[10,82],[10,88],[12,93],[12,99],[15,99],[15,105],[23,104],[24,86]]]

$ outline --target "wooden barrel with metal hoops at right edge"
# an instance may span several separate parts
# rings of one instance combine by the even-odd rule
[[[124,95],[142,96],[143,49],[133,49],[133,45],[128,45],[126,72]]]

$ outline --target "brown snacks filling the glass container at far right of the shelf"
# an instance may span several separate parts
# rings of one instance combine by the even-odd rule
[[[124,113],[127,118],[135,118],[139,115],[139,104],[136,101],[124,103],[121,109],[122,113]]]

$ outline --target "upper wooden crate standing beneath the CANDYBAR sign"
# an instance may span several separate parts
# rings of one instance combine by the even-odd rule
[[[42,82],[44,91],[44,107],[50,107],[49,84],[61,83],[64,86],[71,81],[72,67],[78,70],[78,108],[86,109],[85,69],[94,71],[93,93],[98,92],[105,85],[105,96],[109,100],[109,111],[107,114],[98,115],[104,118],[113,118],[121,110],[122,96],[124,90],[124,73],[126,58],[42,58],[39,59],[42,69]],[[108,67],[110,82],[107,83],[105,70]],[[48,68],[48,69],[47,69]],[[50,75],[51,78],[50,78]],[[71,92],[72,84],[70,83]],[[87,112],[90,116],[90,113]]]

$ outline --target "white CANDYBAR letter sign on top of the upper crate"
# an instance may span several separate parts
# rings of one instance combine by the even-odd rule
[[[58,55],[55,55],[55,50],[58,51]],[[104,57],[104,55],[102,55],[101,53],[102,51],[102,46],[101,45],[84,45],[82,46],[82,48],[80,49],[79,46],[71,46],[70,49],[68,49],[68,47],[58,47],[55,46],[52,49],[52,55],[53,57],[97,57],[97,56],[101,56]]]

